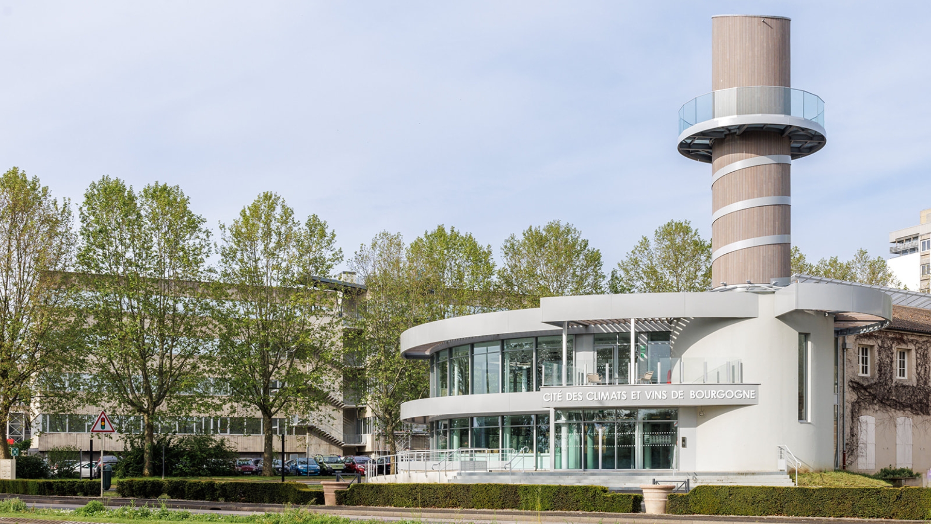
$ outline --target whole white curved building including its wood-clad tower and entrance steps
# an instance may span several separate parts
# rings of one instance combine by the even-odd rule
[[[713,90],[682,106],[678,148],[711,164],[713,290],[546,297],[406,331],[431,391],[402,418],[429,423],[434,449],[489,451],[434,451],[384,480],[517,463],[520,482],[788,484],[795,459],[839,461],[838,337],[886,326],[892,299],[790,282],[790,165],[826,131],[821,99],[790,87],[789,19],[714,17],[712,43]]]

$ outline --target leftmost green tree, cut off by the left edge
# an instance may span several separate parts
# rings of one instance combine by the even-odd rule
[[[29,406],[35,379],[58,375],[71,354],[74,310],[61,272],[73,256],[68,200],[19,168],[0,176],[0,458],[10,458],[10,411]]]

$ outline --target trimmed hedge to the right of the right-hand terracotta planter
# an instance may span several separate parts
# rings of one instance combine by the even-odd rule
[[[931,518],[931,490],[697,486],[688,494],[669,495],[666,512],[674,515],[784,515],[924,520]]]

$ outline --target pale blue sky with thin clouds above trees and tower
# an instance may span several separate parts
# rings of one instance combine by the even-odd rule
[[[213,227],[263,190],[335,228],[438,224],[497,252],[551,219],[610,269],[669,219],[710,233],[675,148],[710,89],[710,17],[792,19],[792,86],[828,145],[792,167],[811,258],[887,255],[931,207],[931,3],[3,2],[0,167],[79,202],[103,174],[178,184]]]

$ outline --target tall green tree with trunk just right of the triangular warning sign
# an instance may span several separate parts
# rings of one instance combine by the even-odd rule
[[[136,193],[104,176],[80,208],[85,356],[94,372],[86,400],[142,418],[144,476],[153,473],[157,417],[209,400],[201,385],[212,346],[210,234],[189,204],[178,186]]]

